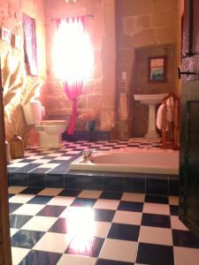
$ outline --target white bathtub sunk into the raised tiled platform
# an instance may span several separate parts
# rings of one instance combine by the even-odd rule
[[[179,151],[149,149],[96,151],[90,160],[85,161],[80,156],[71,163],[70,169],[178,175]]]

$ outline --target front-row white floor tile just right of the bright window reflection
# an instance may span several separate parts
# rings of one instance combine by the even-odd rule
[[[138,243],[117,239],[106,239],[99,257],[113,261],[134,262]]]

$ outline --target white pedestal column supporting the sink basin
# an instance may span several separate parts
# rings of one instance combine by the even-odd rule
[[[149,105],[148,130],[144,138],[159,138],[156,125],[156,105]]]

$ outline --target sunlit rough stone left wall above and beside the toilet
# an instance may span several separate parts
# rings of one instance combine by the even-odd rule
[[[36,19],[36,40],[39,69],[39,75],[37,77],[33,77],[26,72],[23,46],[21,49],[16,49],[13,45],[13,38],[15,34],[19,34],[22,42],[24,41],[22,28],[23,12]],[[7,72],[3,71],[4,74],[6,72],[3,79],[10,79],[11,77],[10,84],[12,82],[12,85],[14,82],[16,82],[16,84],[19,82],[19,84],[17,84],[18,89],[13,89],[11,95],[9,95],[6,99],[6,101],[8,100],[6,103],[6,109],[10,113],[10,117],[8,117],[5,113],[6,139],[10,140],[13,133],[18,133],[26,141],[29,128],[23,116],[21,102],[23,96],[26,95],[29,89],[34,87],[36,82],[42,81],[42,83],[45,84],[46,78],[43,2],[42,0],[0,0],[0,22],[1,27],[11,30],[11,43],[0,40],[1,68],[3,69],[5,64],[7,67]],[[19,72],[14,73],[14,69],[16,69],[19,64],[21,65]]]

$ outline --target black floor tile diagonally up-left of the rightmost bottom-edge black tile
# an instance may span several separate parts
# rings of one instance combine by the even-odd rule
[[[140,232],[139,225],[112,223],[107,238],[138,241],[139,232]]]

